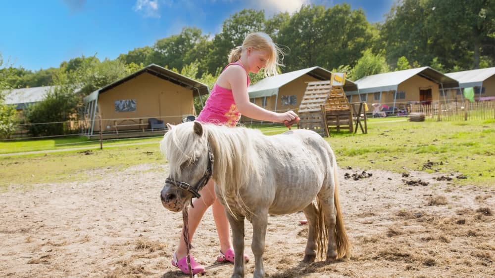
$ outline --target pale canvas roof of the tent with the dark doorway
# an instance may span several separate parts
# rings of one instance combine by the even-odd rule
[[[441,72],[430,67],[422,67],[390,73],[365,76],[355,83],[359,89],[359,93],[374,93],[379,91],[394,91],[400,83],[411,77],[419,75],[423,78],[432,80],[436,83],[442,83],[444,88],[457,87],[458,82]]]

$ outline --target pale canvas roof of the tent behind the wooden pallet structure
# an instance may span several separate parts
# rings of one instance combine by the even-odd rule
[[[258,97],[269,97],[276,95],[279,88],[283,85],[297,79],[303,75],[310,75],[316,79],[320,80],[330,80],[331,72],[320,67],[306,68],[294,72],[288,72],[285,74],[280,74],[276,76],[267,77],[265,79],[259,80],[256,84],[252,84],[247,88],[249,93],[249,98]],[[345,90],[357,90],[356,84],[349,79],[346,79],[346,84],[344,85]]]

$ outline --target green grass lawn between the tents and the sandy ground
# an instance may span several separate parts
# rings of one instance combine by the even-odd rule
[[[258,125],[265,134],[287,130],[284,126]],[[88,180],[93,173],[151,163],[150,171],[164,163],[161,137],[105,141],[103,150],[57,152],[0,157],[0,189],[10,184],[24,187],[36,183]],[[368,134],[332,132],[326,138],[341,167],[384,169],[396,172],[435,170],[466,175],[460,184],[495,184],[495,120],[461,122],[408,122],[404,118],[369,119]],[[145,145],[109,148],[105,145],[148,142]],[[0,153],[99,146],[84,138],[1,142]],[[430,160],[433,165],[425,168]],[[156,165],[156,166],[153,166]]]

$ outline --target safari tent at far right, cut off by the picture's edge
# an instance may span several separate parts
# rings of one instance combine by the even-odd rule
[[[459,87],[446,90],[449,100],[462,100],[462,89],[467,87],[474,87],[476,100],[495,99],[495,67],[448,73],[446,76],[459,81]]]

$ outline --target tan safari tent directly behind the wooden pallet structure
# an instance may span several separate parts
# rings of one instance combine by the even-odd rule
[[[247,88],[251,102],[271,111],[296,110],[302,100],[307,82],[330,80],[331,72],[320,67],[311,67],[288,72],[265,79]],[[346,79],[346,92],[357,92],[357,86]]]

